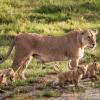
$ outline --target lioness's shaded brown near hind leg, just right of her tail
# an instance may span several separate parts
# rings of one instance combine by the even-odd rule
[[[18,70],[18,68],[26,61],[26,58],[28,58],[29,55],[32,55],[32,49],[26,46],[26,44],[22,44],[17,41],[15,44],[15,55],[12,64],[14,71]]]

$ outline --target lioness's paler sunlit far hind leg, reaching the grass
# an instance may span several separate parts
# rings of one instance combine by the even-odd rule
[[[26,70],[26,68],[29,66],[29,64],[30,64],[30,62],[32,61],[32,56],[30,56],[28,59],[27,59],[27,61],[23,64],[23,66],[18,70],[18,75],[19,75],[19,77],[21,78],[21,79],[26,79],[25,78],[25,70]]]

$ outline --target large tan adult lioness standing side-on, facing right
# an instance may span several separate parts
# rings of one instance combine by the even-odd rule
[[[25,79],[24,71],[32,58],[40,62],[66,61],[69,67],[78,66],[86,47],[96,47],[97,32],[91,29],[71,31],[64,36],[45,36],[35,33],[21,34],[15,37],[4,60],[15,47],[15,56],[12,67],[19,70],[20,78]]]

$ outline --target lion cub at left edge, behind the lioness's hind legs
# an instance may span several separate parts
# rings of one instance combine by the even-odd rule
[[[0,83],[7,83],[7,78],[11,81],[14,80],[15,72],[12,68],[4,69],[0,72]]]

